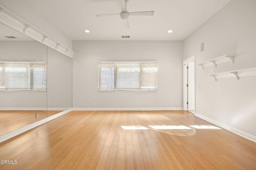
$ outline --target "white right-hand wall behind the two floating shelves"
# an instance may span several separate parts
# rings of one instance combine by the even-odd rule
[[[234,64],[196,65],[196,113],[256,136],[256,76],[214,81],[206,75],[256,67],[255,0],[232,0],[183,43],[183,58],[196,55],[196,64],[225,54],[236,55]]]

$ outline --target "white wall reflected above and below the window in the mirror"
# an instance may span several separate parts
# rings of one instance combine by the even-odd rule
[[[0,61],[46,61],[47,56],[46,45],[37,41],[0,41],[0,51]],[[0,91],[0,108],[22,107],[46,108],[46,91]]]

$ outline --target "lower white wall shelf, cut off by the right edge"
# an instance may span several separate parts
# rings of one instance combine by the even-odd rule
[[[241,69],[241,70],[226,71],[221,73],[213,73],[208,75],[212,76],[215,79],[215,81],[217,81],[217,79],[226,78],[226,77],[236,77],[236,79],[238,80],[239,77],[242,77],[242,76],[256,75],[256,67],[250,68],[250,69]]]

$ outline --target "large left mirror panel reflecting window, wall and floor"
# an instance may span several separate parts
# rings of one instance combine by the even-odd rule
[[[47,47],[0,23],[0,135],[47,117]]]

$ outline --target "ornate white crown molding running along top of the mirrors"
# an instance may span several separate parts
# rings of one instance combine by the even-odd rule
[[[33,38],[34,40],[47,45],[57,51],[73,58],[76,53],[72,49],[66,47],[62,43],[58,42],[54,38],[48,36],[38,28],[32,26],[22,18],[16,16],[3,6],[0,6],[0,22],[14,30]]]

